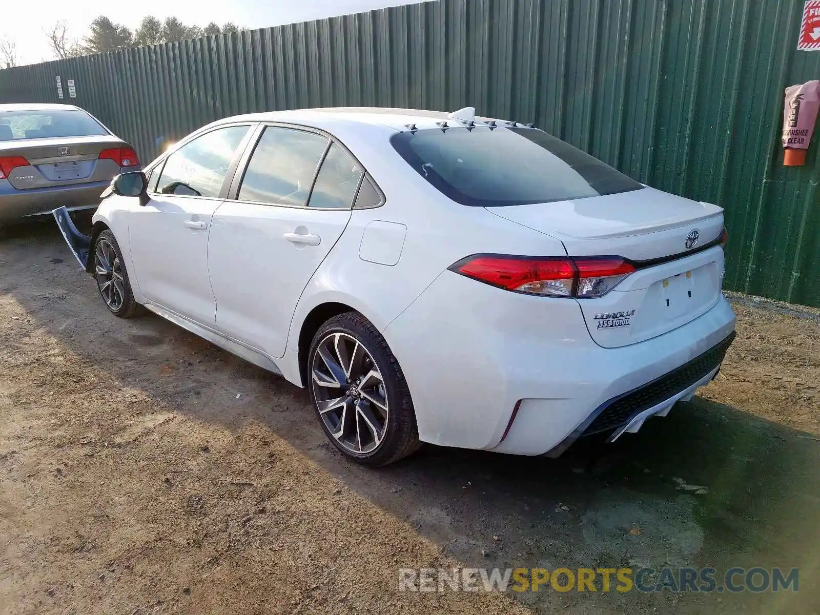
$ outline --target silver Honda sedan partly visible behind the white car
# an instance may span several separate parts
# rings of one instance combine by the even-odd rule
[[[94,209],[112,177],[139,168],[134,149],[80,107],[0,105],[0,226]]]

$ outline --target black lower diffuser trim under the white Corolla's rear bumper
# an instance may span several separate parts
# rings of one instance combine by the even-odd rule
[[[681,367],[676,367],[637,389],[632,389],[602,403],[571,435],[568,435],[547,455],[558,457],[575,440],[585,435],[615,430],[613,437],[610,438],[612,441],[626,430],[637,430],[645,418],[654,415],[666,416],[678,399],[689,399],[698,386],[708,384],[709,376],[717,372],[735,335],[732,331],[718,344],[684,363]],[[645,416],[641,417],[642,414]],[[635,429],[624,429],[633,425]]]

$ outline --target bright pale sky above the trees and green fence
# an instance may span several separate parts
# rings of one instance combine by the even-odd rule
[[[35,0],[33,7],[25,2],[7,2],[0,7],[0,38],[16,42],[18,63],[23,65],[54,59],[44,31],[61,20],[66,21],[69,37],[81,39],[98,15],[131,30],[148,15],[161,21],[178,17],[186,25],[200,26],[209,21],[220,25],[233,21],[253,30],[412,2],[417,0]]]

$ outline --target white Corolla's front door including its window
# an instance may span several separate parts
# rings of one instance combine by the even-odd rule
[[[215,328],[216,303],[207,271],[213,212],[227,193],[250,125],[198,135],[157,167],[151,200],[129,212],[133,275],[149,301]]]

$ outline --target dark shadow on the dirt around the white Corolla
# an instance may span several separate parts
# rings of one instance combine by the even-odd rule
[[[799,594],[664,592],[627,604],[614,593],[572,592],[558,604],[817,608],[820,442],[807,434],[695,398],[638,435],[582,440],[557,460],[428,446],[392,467],[365,469],[326,443],[306,392],[157,317],[108,314],[51,225],[11,230],[0,241],[0,271],[0,294],[89,364],[199,420],[230,429],[261,423],[465,567],[800,567]],[[166,365],[173,377],[162,376]],[[228,380],[214,385],[213,375],[225,372]],[[554,595],[520,599],[539,612],[556,605]]]

